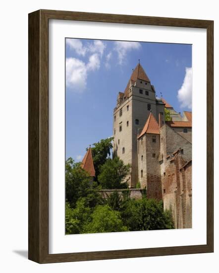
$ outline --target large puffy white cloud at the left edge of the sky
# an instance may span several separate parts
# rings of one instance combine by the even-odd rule
[[[66,85],[74,92],[83,92],[87,86],[88,72],[99,68],[98,54],[91,55],[87,64],[76,58],[66,58]]]

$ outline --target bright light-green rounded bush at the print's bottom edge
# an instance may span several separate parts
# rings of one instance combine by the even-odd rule
[[[91,214],[92,221],[84,227],[84,233],[127,231],[120,213],[109,205],[98,205]]]

